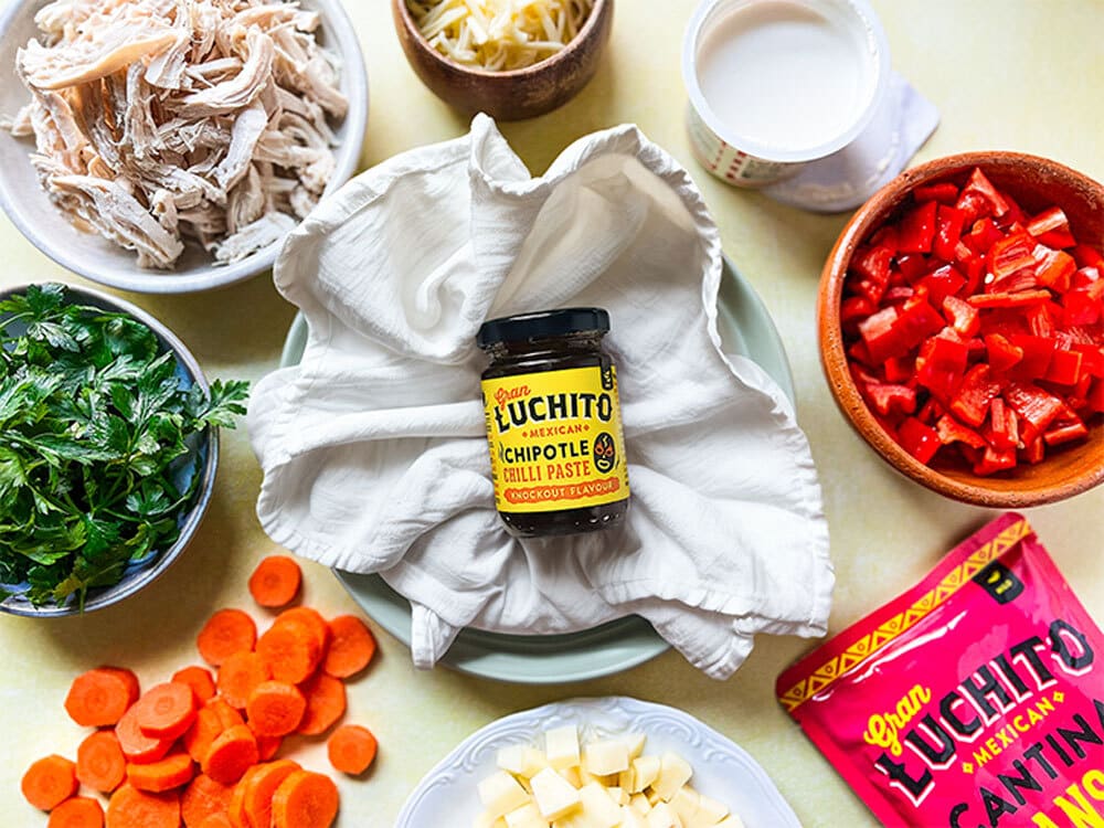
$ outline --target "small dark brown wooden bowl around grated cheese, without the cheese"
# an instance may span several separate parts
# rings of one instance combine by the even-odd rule
[[[562,51],[509,72],[454,63],[422,36],[405,0],[392,0],[391,11],[406,60],[437,97],[466,115],[482,112],[497,120],[520,120],[563,106],[594,76],[609,40],[614,0],[594,0],[582,31]]]

